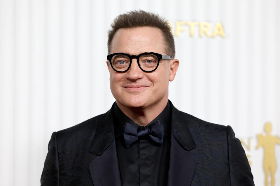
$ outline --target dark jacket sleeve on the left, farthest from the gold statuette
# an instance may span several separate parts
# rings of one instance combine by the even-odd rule
[[[48,144],[48,153],[41,176],[41,186],[59,185],[59,162],[57,154],[56,132],[53,132]]]

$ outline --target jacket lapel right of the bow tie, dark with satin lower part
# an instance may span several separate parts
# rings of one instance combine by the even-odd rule
[[[168,186],[190,186],[197,161],[188,151],[195,148],[195,143],[188,128],[188,118],[184,118],[181,111],[177,110],[172,103],[171,113]]]

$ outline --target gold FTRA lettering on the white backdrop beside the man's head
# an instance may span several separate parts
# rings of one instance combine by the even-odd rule
[[[175,23],[175,36],[179,37],[182,32],[188,31],[190,37],[195,37],[195,31],[198,30],[199,37],[217,37],[220,36],[222,38],[225,37],[225,31],[223,28],[223,24],[221,22],[217,22],[216,24],[212,24],[210,22],[194,22],[194,21],[177,21]]]

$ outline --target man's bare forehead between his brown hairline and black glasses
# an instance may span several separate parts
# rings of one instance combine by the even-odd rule
[[[154,27],[119,29],[112,40],[111,53],[125,52],[138,55],[143,52],[164,53],[162,31]]]

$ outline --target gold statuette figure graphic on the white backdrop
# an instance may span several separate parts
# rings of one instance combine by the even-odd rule
[[[271,135],[272,125],[270,122],[265,123],[265,133],[258,134],[258,145],[256,149],[261,146],[264,149],[263,169],[265,171],[265,186],[268,186],[268,176],[270,173],[271,185],[275,185],[275,171],[276,171],[276,158],[275,158],[275,145],[280,144],[280,139],[277,136]]]

